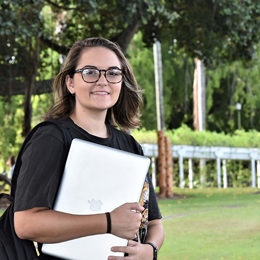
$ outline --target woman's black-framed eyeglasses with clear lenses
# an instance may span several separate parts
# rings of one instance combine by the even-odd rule
[[[100,78],[101,71],[104,71],[105,79],[110,83],[119,83],[123,78],[124,70],[119,68],[97,69],[85,67],[75,70],[74,73],[81,72],[82,79],[85,82],[94,83]]]

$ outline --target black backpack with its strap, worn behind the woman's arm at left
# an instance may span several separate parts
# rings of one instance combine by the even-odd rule
[[[25,138],[20,151],[18,153],[15,167],[13,170],[12,180],[11,180],[11,192],[9,194],[0,193],[0,198],[5,196],[11,203],[4,211],[0,217],[0,260],[34,260],[38,259],[34,244],[30,240],[20,239],[14,230],[13,224],[13,206],[14,206],[14,196],[17,178],[19,175],[19,170],[21,167],[21,155],[24,150],[25,145],[30,140],[33,133],[41,126],[47,124],[56,124],[63,133],[65,152],[68,154],[69,147],[72,141],[72,137],[68,129],[62,125],[62,123],[56,120],[44,121],[37,124]],[[65,166],[65,165],[64,165]]]

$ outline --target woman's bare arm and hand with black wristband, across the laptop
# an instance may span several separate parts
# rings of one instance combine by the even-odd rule
[[[143,207],[139,203],[125,203],[111,215],[111,233],[125,239],[132,239],[137,232]],[[40,243],[57,243],[70,239],[106,233],[105,214],[73,215],[51,210],[48,207],[34,207],[14,212],[14,228],[17,236]]]

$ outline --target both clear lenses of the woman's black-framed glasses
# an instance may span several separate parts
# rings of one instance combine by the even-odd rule
[[[95,68],[85,68],[82,71],[83,79],[87,82],[97,81],[99,78],[99,70]],[[122,79],[122,71],[111,68],[106,70],[105,77],[108,82],[117,83]]]

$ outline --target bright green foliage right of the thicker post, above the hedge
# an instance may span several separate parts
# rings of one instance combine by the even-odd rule
[[[237,128],[236,102],[242,104],[241,125],[247,131],[260,130],[259,45],[250,63],[241,61],[208,69],[207,129],[234,132]]]

